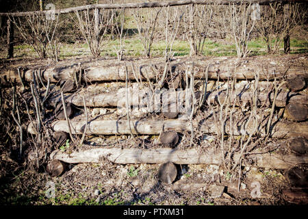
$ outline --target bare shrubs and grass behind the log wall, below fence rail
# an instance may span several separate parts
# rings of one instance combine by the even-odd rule
[[[127,3],[131,1],[98,2]],[[97,3],[97,1],[47,0],[43,1],[43,8],[48,3],[53,3],[56,9],[60,9]],[[10,2],[1,0],[1,5],[3,5],[2,12],[39,10],[38,0]],[[287,30],[291,34],[291,53],[306,53],[308,48],[308,29],[305,25],[307,8],[300,4],[292,5],[292,7],[290,18],[287,21],[289,24]],[[121,60],[125,57],[140,57],[140,55],[161,57],[166,55],[167,48],[169,55],[175,56],[238,55],[243,57],[283,53],[285,35],[285,28],[282,24],[283,5],[261,5],[261,20],[255,22],[251,21],[251,18],[242,18],[241,13],[244,11],[251,14],[251,5],[242,5],[238,8],[232,8],[232,5],[183,5],[162,9],[101,10],[98,45],[91,44],[94,41],[94,10],[78,14],[61,14],[57,22],[51,24],[44,22],[44,16],[29,17],[22,21],[16,19],[15,25],[20,28],[15,31],[15,57],[46,57],[47,55],[57,61],[94,55],[96,57],[118,57]],[[77,19],[77,15],[80,16],[80,20]],[[238,21],[243,22],[235,27],[231,18],[238,18]],[[40,26],[36,25],[31,28],[29,23],[35,23],[35,21],[38,21]],[[87,22],[88,29],[81,29],[82,23]],[[49,35],[53,34],[50,42],[46,39],[48,34],[45,34],[47,36],[34,34],[33,29],[37,29],[37,33],[42,33],[45,27],[51,30]],[[251,33],[241,38],[244,28],[247,32],[251,30]],[[2,18],[0,35],[3,45],[6,40],[5,31],[6,21]],[[26,33],[25,36],[22,36],[23,33]],[[170,39],[171,36],[174,38]],[[29,38],[31,40],[27,40]],[[40,39],[37,40],[37,38]],[[45,56],[36,49],[38,44],[42,44],[42,48],[47,50]],[[97,47],[96,54],[94,54],[93,46]],[[239,51],[240,48],[245,51]],[[149,53],[145,52],[147,50]],[[121,57],[118,56],[120,54]],[[5,58],[6,55],[6,48],[1,47],[0,57]]]

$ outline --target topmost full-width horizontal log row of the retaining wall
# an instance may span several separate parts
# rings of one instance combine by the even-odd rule
[[[208,60],[202,60],[200,58],[183,57],[181,60],[172,61],[170,63],[172,72],[183,73],[187,66],[192,66],[194,61],[194,77],[205,77],[205,70],[208,68],[209,79],[228,79],[229,77],[235,77],[241,80],[253,80],[255,74],[259,73],[259,80],[277,79],[283,77],[294,77],[301,75],[304,79],[308,79],[307,71],[307,59],[304,56],[291,55],[290,57],[270,57],[270,56],[258,56],[248,57],[246,59],[238,60],[236,57],[213,57]],[[133,67],[132,67],[133,64]],[[125,81],[126,69],[128,77],[131,80],[138,79],[146,80],[155,79],[156,75],[161,75],[164,72],[164,66],[166,62],[161,59],[145,60],[140,62],[136,61],[123,61],[123,62],[111,62],[110,60],[100,60],[99,62],[86,62],[81,65],[84,77],[87,81]],[[42,78],[46,81],[48,79],[51,82],[57,82],[59,80],[74,79],[73,74],[75,70],[79,69],[77,64],[66,64],[61,66],[51,66],[49,68],[42,69]],[[38,70],[37,68],[30,68],[22,73],[23,79],[32,81],[32,73]],[[134,75],[135,73],[135,75]],[[8,70],[1,74],[1,78],[6,77],[12,81],[20,83],[17,70]]]

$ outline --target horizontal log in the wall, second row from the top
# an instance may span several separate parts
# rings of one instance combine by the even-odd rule
[[[153,95],[149,95],[151,93],[151,90],[129,90],[128,99],[129,104],[134,106],[146,106],[150,104],[155,103],[155,98]],[[125,97],[125,88],[120,88],[118,92],[116,93],[100,93],[100,94],[91,94],[91,92],[87,92],[84,94],[85,100],[86,100],[86,106],[88,107],[125,107],[126,99]],[[185,90],[182,91],[171,91],[170,96],[174,96],[174,99],[169,101],[168,103],[177,103],[181,102],[183,103],[183,100],[185,100]],[[163,98],[164,94],[157,94],[158,98],[162,99],[163,103],[167,103],[169,99]],[[222,91],[214,91],[214,92],[207,92],[207,101],[211,104],[218,104],[218,99],[222,103],[227,95],[226,90]],[[179,96],[181,96],[181,99],[179,99]],[[240,100],[242,103],[247,103],[253,99],[253,92],[251,90],[242,91],[238,89],[238,92],[234,92],[234,94],[231,96],[231,101],[235,101],[235,105],[240,105]],[[270,92],[270,94],[265,92],[259,92],[257,94],[258,96],[258,105],[272,105],[272,101],[274,99],[274,92]],[[144,101],[146,100],[146,101]],[[59,97],[52,99],[52,102],[59,101]],[[83,94],[72,94],[68,95],[66,98],[66,101],[69,103],[73,103],[77,106],[84,106],[83,101]],[[166,101],[166,102],[165,102]],[[308,104],[308,96],[304,94],[300,94],[298,92],[286,92],[286,91],[280,91],[276,98],[276,106],[277,107],[285,107],[287,103],[300,103],[300,104]]]

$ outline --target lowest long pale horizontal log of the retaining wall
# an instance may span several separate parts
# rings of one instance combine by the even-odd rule
[[[239,153],[235,153],[234,159],[238,159]],[[257,166],[260,168],[292,168],[297,164],[308,162],[308,156],[278,155],[274,153],[261,153],[246,155],[248,159],[255,161],[253,164],[243,162],[243,166]],[[222,157],[220,152],[214,153],[212,149],[120,149],[120,148],[96,148],[85,151],[63,153],[60,150],[53,151],[51,159],[59,159],[70,164],[99,163],[103,158],[109,159],[115,164],[216,164],[220,165]]]

